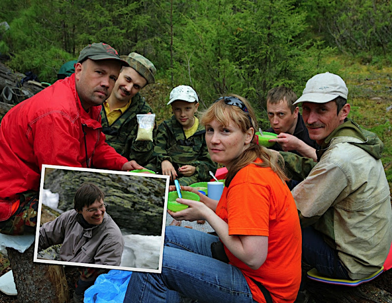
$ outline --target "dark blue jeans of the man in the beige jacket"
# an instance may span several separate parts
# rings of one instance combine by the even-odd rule
[[[302,260],[329,278],[350,279],[336,250],[313,227],[302,228]]]

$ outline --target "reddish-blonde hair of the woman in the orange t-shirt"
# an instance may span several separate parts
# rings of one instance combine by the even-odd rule
[[[223,126],[228,126],[231,121],[234,121],[239,128],[245,133],[250,127],[258,129],[256,116],[249,102],[245,98],[237,95],[228,95],[227,97],[235,97],[243,101],[248,112],[243,111],[240,107],[229,105],[224,102],[224,99],[214,102],[209,108],[201,113],[200,124],[206,125],[213,120],[216,120]],[[254,161],[260,158],[262,163],[255,163]],[[253,163],[259,167],[270,167],[271,170],[278,175],[282,181],[288,180],[283,171],[283,157],[276,152],[272,152],[267,148],[258,145],[255,140],[252,140],[249,147],[233,161],[226,175],[225,186],[229,186],[233,177],[237,172],[246,165]]]

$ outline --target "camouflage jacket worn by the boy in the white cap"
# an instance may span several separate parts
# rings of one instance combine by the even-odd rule
[[[174,115],[158,126],[153,156],[156,157],[159,172],[164,160],[169,160],[176,171],[183,165],[195,166],[196,172],[192,177],[196,177],[197,182],[209,181],[209,171],[215,172],[217,169],[207,150],[204,126],[199,125],[196,132],[186,139]]]

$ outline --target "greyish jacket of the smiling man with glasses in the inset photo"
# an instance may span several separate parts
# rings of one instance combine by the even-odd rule
[[[119,266],[124,240],[117,224],[106,212],[103,222],[94,227],[83,228],[79,223],[81,218],[72,209],[43,224],[39,249],[62,243],[60,257],[63,261]]]

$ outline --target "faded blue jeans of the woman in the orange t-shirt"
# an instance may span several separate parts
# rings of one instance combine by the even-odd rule
[[[255,303],[241,271],[212,258],[216,241],[217,236],[202,231],[166,227],[162,274],[133,272],[124,303],[180,303],[181,297],[198,303]]]

